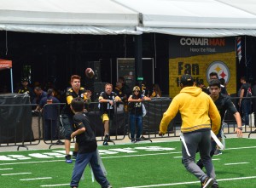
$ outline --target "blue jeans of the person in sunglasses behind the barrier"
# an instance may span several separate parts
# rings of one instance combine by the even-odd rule
[[[135,126],[137,125],[137,134],[136,139],[138,140],[141,138],[143,133],[143,116],[142,115],[135,115],[130,113],[130,133],[131,133],[131,140],[134,140],[135,136]]]

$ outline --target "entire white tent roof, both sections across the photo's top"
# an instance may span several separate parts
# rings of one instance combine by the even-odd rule
[[[0,0],[0,30],[256,36],[254,0]]]

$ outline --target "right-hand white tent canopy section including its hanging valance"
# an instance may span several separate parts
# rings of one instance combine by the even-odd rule
[[[253,0],[116,1],[143,14],[143,26],[137,31],[193,37],[256,36]]]

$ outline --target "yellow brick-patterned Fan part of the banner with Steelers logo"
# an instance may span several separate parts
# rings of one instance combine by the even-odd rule
[[[229,94],[236,94],[236,51],[232,51],[169,59],[169,95],[173,98],[179,93],[179,78],[183,74],[190,74],[195,82],[202,81],[208,86],[212,71],[225,79]]]

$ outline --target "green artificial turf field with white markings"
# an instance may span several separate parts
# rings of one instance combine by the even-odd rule
[[[227,149],[214,156],[220,188],[256,187],[256,140],[227,139]],[[181,143],[154,142],[99,146],[108,180],[114,188],[201,187],[181,163]],[[0,152],[1,188],[69,187],[73,163],[64,161],[64,150]],[[79,187],[100,187],[85,169]]]

